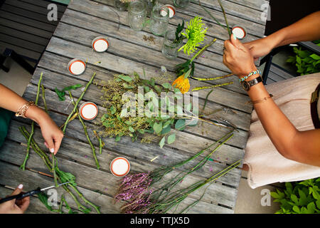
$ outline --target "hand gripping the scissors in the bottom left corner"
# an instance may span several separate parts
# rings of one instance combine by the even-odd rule
[[[23,185],[19,185],[11,195],[18,195],[22,192]],[[30,204],[30,197],[23,199],[12,199],[0,204],[0,214],[23,214]]]

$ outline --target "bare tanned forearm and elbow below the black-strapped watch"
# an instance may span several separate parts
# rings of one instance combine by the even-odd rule
[[[251,100],[269,97],[262,83],[249,91]],[[272,99],[254,105],[255,111],[277,151],[284,157],[320,166],[320,130],[299,131]]]

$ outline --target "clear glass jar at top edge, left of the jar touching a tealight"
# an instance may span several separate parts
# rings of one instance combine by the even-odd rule
[[[146,4],[142,0],[132,1],[128,7],[128,23],[134,31],[144,28],[146,22]]]

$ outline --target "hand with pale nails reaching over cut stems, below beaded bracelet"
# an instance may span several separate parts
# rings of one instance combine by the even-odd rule
[[[63,132],[41,108],[31,106],[31,108],[27,110],[26,115],[28,115],[28,118],[31,118],[38,123],[41,128],[41,133],[45,140],[46,147],[50,152],[54,152],[56,154],[63,140]]]

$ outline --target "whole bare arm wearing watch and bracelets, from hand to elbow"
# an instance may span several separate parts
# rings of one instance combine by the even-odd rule
[[[260,73],[257,73],[249,48],[233,35],[225,41],[223,63],[242,81],[242,87],[250,96],[255,112],[277,151],[289,160],[320,166],[320,130],[299,131],[294,127],[259,79]]]

